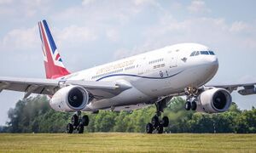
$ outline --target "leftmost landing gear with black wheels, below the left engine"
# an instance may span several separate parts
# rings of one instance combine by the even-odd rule
[[[77,130],[78,133],[84,133],[84,126],[88,126],[89,124],[89,117],[84,115],[81,116],[81,111],[77,111],[71,117],[71,123],[67,124],[66,132],[73,133],[73,130]]]

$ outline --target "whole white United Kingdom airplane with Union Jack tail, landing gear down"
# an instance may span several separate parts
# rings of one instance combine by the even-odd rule
[[[67,133],[84,133],[89,117],[81,111],[132,111],[155,105],[156,112],[146,125],[146,133],[163,133],[169,119],[162,117],[174,96],[185,96],[185,110],[205,113],[228,111],[230,93],[256,94],[256,82],[207,85],[218,71],[218,58],[207,46],[179,43],[125,59],[71,73],[61,55],[46,20],[38,22],[46,79],[0,77],[0,92],[14,90],[49,95],[55,111],[73,112]]]

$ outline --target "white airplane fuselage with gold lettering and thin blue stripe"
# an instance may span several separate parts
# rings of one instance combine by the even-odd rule
[[[132,88],[111,99],[92,100],[83,111],[129,111],[210,81],[218,71],[216,55],[190,56],[194,51],[209,51],[209,48],[197,43],[180,43],[79,71],[65,79],[126,83]]]

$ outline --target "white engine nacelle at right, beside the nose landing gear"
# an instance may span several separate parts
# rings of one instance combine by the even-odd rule
[[[202,92],[198,97],[196,111],[219,113],[228,111],[232,103],[230,92],[224,88],[211,88]]]

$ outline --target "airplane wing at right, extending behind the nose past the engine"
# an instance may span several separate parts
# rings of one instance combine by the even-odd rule
[[[241,95],[256,94],[255,88],[256,82],[246,83],[230,83],[230,84],[212,84],[206,85],[205,87],[225,88],[232,93],[234,90],[238,90]]]

